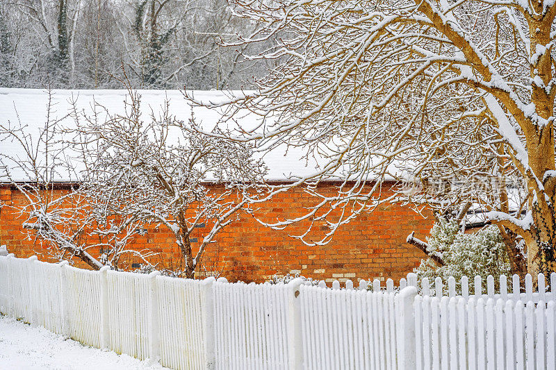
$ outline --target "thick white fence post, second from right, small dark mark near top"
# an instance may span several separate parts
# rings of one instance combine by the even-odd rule
[[[300,286],[302,278],[291,280],[288,287],[288,353],[290,370],[303,369]]]

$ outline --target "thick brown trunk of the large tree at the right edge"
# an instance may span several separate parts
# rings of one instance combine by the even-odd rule
[[[542,2],[532,2],[532,7],[538,13],[528,17],[531,32],[530,53],[533,56],[539,47],[549,45],[553,40],[550,35],[555,17],[554,8],[550,12],[543,12]],[[549,276],[555,271],[555,215],[554,202],[556,201],[555,181],[553,175],[556,169],[554,126],[553,91],[543,86],[550,86],[553,81],[553,57],[549,47],[547,51],[539,53],[537,58],[531,60],[531,77],[540,78],[542,83],[531,84],[531,101],[534,103],[537,118],[530,124],[523,125],[529,166],[534,178],[528,178],[530,195],[530,210],[533,224],[530,226],[530,237],[525,238],[527,244],[527,268],[533,276],[542,273]],[[549,175],[549,176],[547,176]],[[538,182],[541,182],[539,185]]]

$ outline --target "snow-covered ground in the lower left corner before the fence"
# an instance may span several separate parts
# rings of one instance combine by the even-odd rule
[[[0,369],[166,369],[0,316]]]

